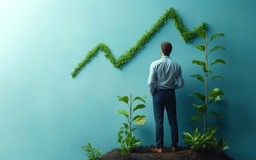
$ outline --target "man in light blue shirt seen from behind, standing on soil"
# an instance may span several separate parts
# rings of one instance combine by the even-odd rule
[[[164,150],[164,108],[168,115],[168,121],[172,132],[172,152],[176,151],[178,144],[178,124],[176,118],[175,90],[184,87],[182,69],[178,63],[170,59],[172,44],[161,44],[161,59],[153,61],[150,65],[148,87],[153,96],[153,113],[155,117],[155,153],[163,153]]]

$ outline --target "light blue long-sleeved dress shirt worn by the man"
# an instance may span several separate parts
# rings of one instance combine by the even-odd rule
[[[169,56],[162,56],[151,63],[147,84],[151,95],[155,89],[180,89],[184,87],[182,69]]]

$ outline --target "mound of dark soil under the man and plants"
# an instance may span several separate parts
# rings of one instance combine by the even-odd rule
[[[121,155],[120,151],[114,149],[103,155],[101,160],[128,160],[128,159],[141,159],[141,160],[159,160],[159,159],[188,159],[188,160],[229,160],[232,159],[225,153],[216,153],[214,150],[207,150],[202,153],[188,149],[186,147],[178,147],[175,153],[172,153],[171,147],[164,147],[164,153],[153,153],[151,147],[135,147],[131,154]]]

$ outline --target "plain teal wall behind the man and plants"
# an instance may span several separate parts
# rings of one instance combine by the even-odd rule
[[[147,96],[144,126],[135,131],[141,145],[155,145],[152,99],[147,90],[151,61],[159,59],[160,44],[173,44],[172,59],[182,66],[184,89],[176,91],[179,145],[182,133],[192,133],[202,122],[188,123],[196,113],[189,94],[203,85],[190,77],[202,73],[192,65],[202,59],[195,45],[198,37],[184,43],[174,22],[168,23],[123,69],[119,70],[100,52],[75,79],[70,73],[98,43],[105,43],[118,58],[133,47],[141,35],[174,7],[188,29],[208,24],[208,37],[225,33],[214,45],[226,47],[212,54],[227,65],[215,65],[210,88],[225,92],[215,111],[222,119],[218,137],[232,139],[226,153],[234,159],[256,159],[255,126],[255,37],[256,2],[204,0],[3,0],[0,1],[0,159],[84,159],[81,146],[91,142],[103,153],[119,147],[119,123],[125,118],[115,111],[125,109],[117,95]],[[165,119],[165,145],[170,145],[170,128]]]

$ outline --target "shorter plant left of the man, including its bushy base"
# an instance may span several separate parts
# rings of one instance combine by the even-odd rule
[[[146,106],[143,104],[145,103],[145,98],[146,97],[135,97],[133,101],[131,100],[131,95],[130,99],[127,96],[124,97],[118,97],[119,101],[123,101],[124,103],[127,103],[127,106],[129,107],[129,111],[126,110],[119,110],[117,113],[124,115],[127,118],[128,123],[123,123],[123,127],[120,128],[118,135],[118,142],[120,143],[121,147],[121,154],[126,155],[131,153],[131,150],[134,147],[137,147],[142,140],[141,139],[136,139],[135,136],[133,135],[133,131],[135,131],[135,126],[136,125],[144,125],[145,124],[145,115],[134,115],[134,112],[137,111],[138,109],[143,109]],[[129,101],[130,100],[130,101]],[[141,101],[143,102],[142,104],[136,105],[136,107],[133,109],[132,105],[133,102],[135,101]]]

